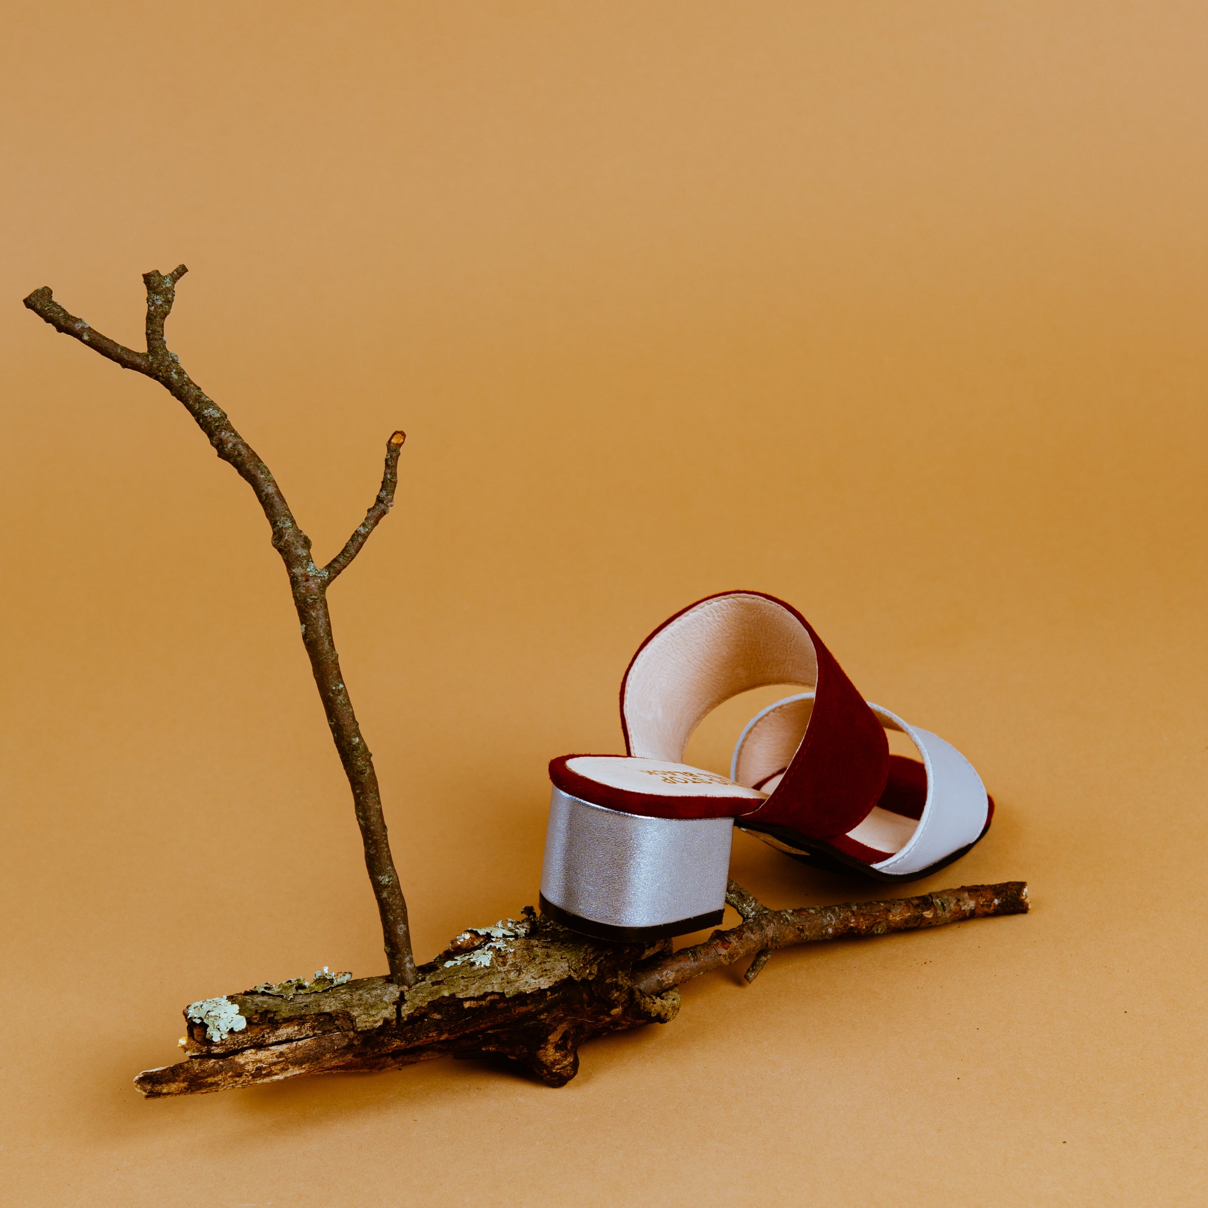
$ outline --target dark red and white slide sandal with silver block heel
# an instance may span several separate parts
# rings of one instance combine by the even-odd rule
[[[704,716],[749,689],[808,689],[757,713],[730,777],[683,762]],[[664,621],[621,681],[625,755],[563,755],[541,911],[602,940],[721,922],[736,825],[832,871],[916,881],[964,855],[994,802],[942,738],[866,702],[809,622],[761,592],[722,592]],[[892,755],[887,730],[918,759]]]

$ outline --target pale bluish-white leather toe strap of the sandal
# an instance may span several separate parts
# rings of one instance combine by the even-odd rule
[[[734,747],[732,780],[751,788],[788,767],[809,724],[813,697],[813,692],[785,697],[751,718]],[[893,855],[871,867],[878,872],[919,872],[981,835],[989,817],[986,786],[964,755],[939,734],[911,726],[871,701],[869,708],[885,730],[901,731],[910,738],[927,769],[927,803],[913,834]],[[852,837],[867,842],[856,834]]]

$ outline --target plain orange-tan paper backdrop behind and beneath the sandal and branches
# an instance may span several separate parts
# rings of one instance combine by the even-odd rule
[[[1197,1202],[1206,51],[1169,0],[11,0],[7,1202]],[[19,304],[137,342],[181,260],[169,342],[318,554],[410,435],[331,604],[422,958],[535,899],[546,761],[617,749],[637,643],[731,587],[982,771],[923,888],[1033,913],[693,982],[562,1091],[143,1102],[184,1004],[384,969],[254,499]]]

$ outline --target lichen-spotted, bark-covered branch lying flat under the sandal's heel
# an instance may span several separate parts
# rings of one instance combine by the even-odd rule
[[[525,908],[519,919],[463,931],[406,991],[383,977],[316,975],[309,985],[295,980],[194,1003],[185,1009],[185,1059],[144,1070],[134,1085],[158,1098],[495,1056],[547,1086],[564,1086],[579,1070],[585,1041],[670,1022],[680,1009],[678,986],[754,952],[1028,910],[1027,885],[1018,881],[790,911],[768,910],[731,882],[728,900],[743,922],[676,953],[669,941],[588,940]]]

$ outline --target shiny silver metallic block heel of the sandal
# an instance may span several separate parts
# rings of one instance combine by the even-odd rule
[[[541,912],[633,943],[721,922],[733,818],[646,818],[561,789],[550,800]]]

